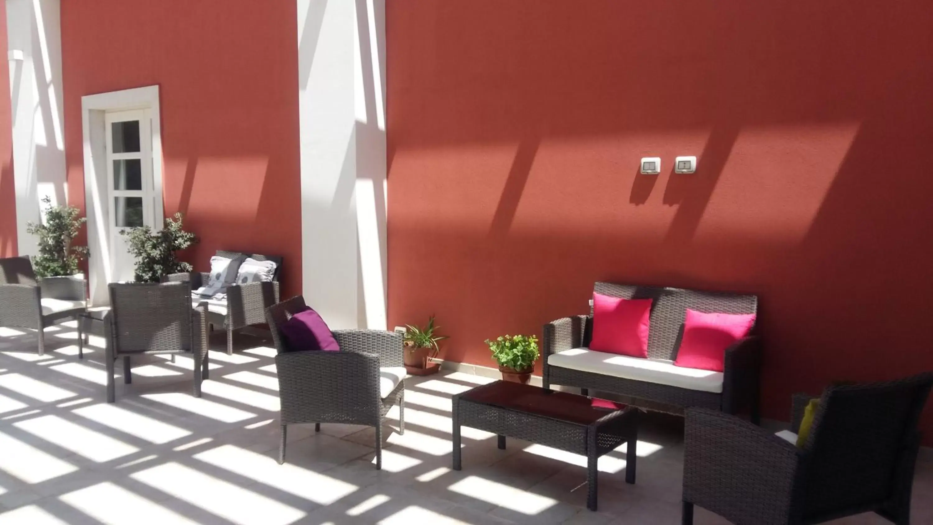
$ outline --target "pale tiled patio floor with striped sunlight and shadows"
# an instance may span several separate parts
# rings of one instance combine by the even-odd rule
[[[214,348],[224,348],[216,333]],[[585,508],[582,457],[465,428],[463,470],[451,470],[451,395],[488,380],[466,374],[409,378],[406,433],[387,435],[373,467],[371,428],[289,427],[278,447],[274,351],[238,336],[211,352],[211,380],[191,396],[191,360],[140,359],[104,402],[101,340],[77,359],[73,328],[35,334],[0,328],[0,525],[61,523],[679,523],[682,421],[642,427],[638,479],[624,483],[624,447],[600,461],[599,512]],[[120,368],[118,366],[118,368]],[[397,408],[387,428],[397,426]],[[933,489],[918,465],[915,493]],[[698,510],[697,523],[723,523]],[[840,523],[882,523],[862,516]],[[914,522],[933,522],[915,497]]]

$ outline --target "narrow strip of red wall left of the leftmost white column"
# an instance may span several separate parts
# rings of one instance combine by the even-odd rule
[[[7,6],[0,5],[0,54],[7,56]],[[0,257],[17,255],[16,188],[9,67],[0,67]]]

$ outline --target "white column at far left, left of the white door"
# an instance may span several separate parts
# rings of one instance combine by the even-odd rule
[[[27,222],[40,218],[40,200],[67,202],[59,0],[6,0],[13,120],[13,173],[20,255],[36,253]]]

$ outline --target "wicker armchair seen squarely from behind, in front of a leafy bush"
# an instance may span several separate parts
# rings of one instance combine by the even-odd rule
[[[104,316],[107,341],[107,403],[116,397],[114,361],[123,358],[123,382],[131,383],[130,357],[190,353],[194,357],[194,396],[201,397],[207,369],[207,309],[191,308],[185,283],[111,283],[110,311]]]

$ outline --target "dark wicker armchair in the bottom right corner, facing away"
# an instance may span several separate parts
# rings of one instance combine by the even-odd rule
[[[687,411],[683,523],[698,504],[738,525],[875,512],[910,523],[917,422],[933,374],[828,388],[802,448],[733,416]],[[794,396],[793,428],[810,397]]]

